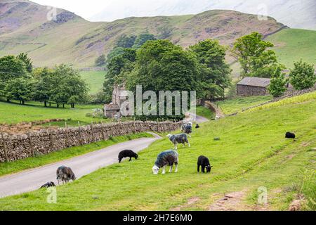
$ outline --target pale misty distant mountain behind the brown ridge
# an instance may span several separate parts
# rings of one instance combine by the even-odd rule
[[[132,16],[187,15],[214,9],[263,14],[293,28],[316,30],[315,0],[116,0],[94,15],[92,21]]]

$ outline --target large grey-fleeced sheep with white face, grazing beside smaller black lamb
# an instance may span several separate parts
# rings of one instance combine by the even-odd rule
[[[152,167],[152,172],[154,175],[157,175],[160,168],[162,169],[162,174],[166,174],[166,167],[170,166],[169,172],[172,172],[173,164],[176,165],[175,173],[178,172],[178,162],[179,155],[175,150],[166,150],[160,153],[157,157],[157,161],[154,163],[154,167]]]

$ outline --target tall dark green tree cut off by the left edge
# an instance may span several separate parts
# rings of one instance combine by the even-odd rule
[[[6,96],[6,84],[13,79],[27,76],[25,63],[15,56],[0,58],[0,96]],[[10,98],[7,98],[10,101]]]

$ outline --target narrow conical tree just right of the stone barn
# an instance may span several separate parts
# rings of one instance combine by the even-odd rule
[[[284,69],[285,67],[283,65],[279,65],[276,68],[275,72],[272,74],[270,85],[268,86],[270,94],[275,98],[282,96],[282,94],[287,91],[285,85],[288,81],[285,78],[285,74],[282,72]]]

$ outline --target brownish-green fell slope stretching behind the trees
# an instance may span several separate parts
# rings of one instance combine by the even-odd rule
[[[222,44],[258,31],[270,34],[284,27],[273,18],[259,21],[256,15],[236,11],[206,11],[198,15],[126,18],[112,23],[91,23],[58,9],[57,21],[48,21],[46,6],[27,0],[1,2],[0,56],[29,53],[36,66],[70,63],[78,68],[93,66],[101,53],[108,53],[122,34],[151,32],[166,27],[169,39],[189,46],[206,38]],[[29,13],[29,12],[33,13]]]

